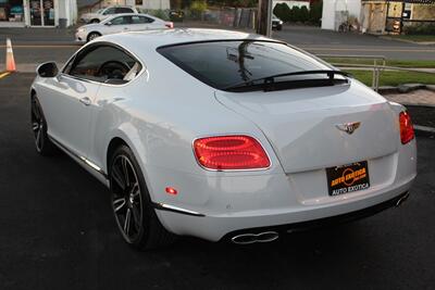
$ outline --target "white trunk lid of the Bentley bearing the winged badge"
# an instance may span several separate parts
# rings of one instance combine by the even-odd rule
[[[216,91],[215,97],[264,133],[286,173],[371,160],[398,149],[390,105],[353,81],[270,92]],[[352,134],[338,128],[358,122]]]

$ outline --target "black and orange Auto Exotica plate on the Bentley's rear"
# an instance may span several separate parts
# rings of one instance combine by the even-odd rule
[[[326,168],[327,191],[331,197],[357,192],[370,188],[366,161]]]

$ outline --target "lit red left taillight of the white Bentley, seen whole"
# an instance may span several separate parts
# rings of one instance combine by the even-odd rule
[[[271,165],[259,141],[245,135],[199,138],[194,150],[198,163],[208,169],[261,169]]]

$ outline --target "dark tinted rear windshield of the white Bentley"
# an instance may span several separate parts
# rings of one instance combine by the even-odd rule
[[[277,74],[332,68],[285,43],[270,41],[196,42],[162,47],[158,52],[216,89]]]

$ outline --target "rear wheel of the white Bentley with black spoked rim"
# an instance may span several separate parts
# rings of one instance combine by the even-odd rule
[[[171,244],[175,235],[160,223],[132,150],[119,147],[109,164],[112,211],[124,241],[136,250]]]

